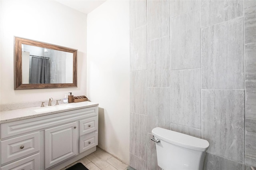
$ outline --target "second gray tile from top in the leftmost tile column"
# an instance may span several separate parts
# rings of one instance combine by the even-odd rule
[[[130,31],[130,70],[147,69],[147,27]]]

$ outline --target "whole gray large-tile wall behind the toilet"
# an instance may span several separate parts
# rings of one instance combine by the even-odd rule
[[[154,127],[210,142],[204,170],[256,166],[256,1],[130,1],[130,166]]]

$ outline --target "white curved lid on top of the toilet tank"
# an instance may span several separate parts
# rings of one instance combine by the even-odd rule
[[[170,142],[177,146],[189,148],[193,150],[206,151],[209,147],[209,142],[204,139],[196,138],[187,134],[175,132],[172,130],[156,127],[153,128],[152,134],[161,140]]]

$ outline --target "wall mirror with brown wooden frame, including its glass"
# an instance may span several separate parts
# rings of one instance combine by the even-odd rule
[[[14,89],[77,87],[77,49],[14,37]]]

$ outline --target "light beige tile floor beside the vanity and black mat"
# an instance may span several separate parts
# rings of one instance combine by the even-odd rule
[[[66,166],[66,168],[78,162],[84,164],[89,170],[127,170],[128,168],[128,165],[98,147],[95,152]],[[62,168],[61,170],[65,170],[66,168]]]

